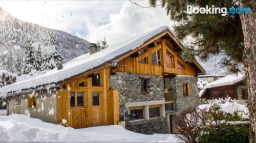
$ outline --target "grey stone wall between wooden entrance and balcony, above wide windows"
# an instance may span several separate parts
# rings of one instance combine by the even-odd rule
[[[148,94],[141,91],[140,77],[150,77],[147,82]],[[143,102],[164,100],[163,76],[117,72],[110,76],[110,89],[119,91],[119,114],[123,117],[126,102]]]

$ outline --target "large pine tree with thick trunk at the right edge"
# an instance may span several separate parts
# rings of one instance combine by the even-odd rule
[[[175,32],[179,39],[191,36],[195,39],[192,46],[183,53],[182,58],[191,61],[195,56],[207,60],[211,53],[223,51],[227,59],[223,63],[232,72],[238,72],[243,64],[248,79],[250,112],[250,142],[256,142],[256,1],[255,0],[150,0],[153,7],[160,2],[170,18],[178,22]],[[186,6],[251,8],[251,14],[188,14]],[[242,11],[244,12],[244,11]]]

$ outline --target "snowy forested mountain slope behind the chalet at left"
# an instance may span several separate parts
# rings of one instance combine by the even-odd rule
[[[0,69],[19,73],[24,58],[22,45],[29,39],[37,45],[46,43],[51,32],[56,34],[58,50],[65,62],[89,52],[90,42],[87,40],[66,32],[24,22],[0,8],[0,50],[2,51]]]

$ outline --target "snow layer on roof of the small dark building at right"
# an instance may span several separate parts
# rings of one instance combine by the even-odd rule
[[[199,96],[202,96],[206,89],[222,87],[225,85],[233,85],[243,81],[246,78],[244,73],[230,74],[214,82],[210,82],[204,86],[204,89],[200,91]]]

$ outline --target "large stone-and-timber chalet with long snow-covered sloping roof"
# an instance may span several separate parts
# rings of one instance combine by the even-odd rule
[[[41,76],[1,89],[8,113],[73,128],[119,124],[145,133],[173,133],[174,117],[200,103],[195,60],[186,63],[167,26],[91,52]]]

